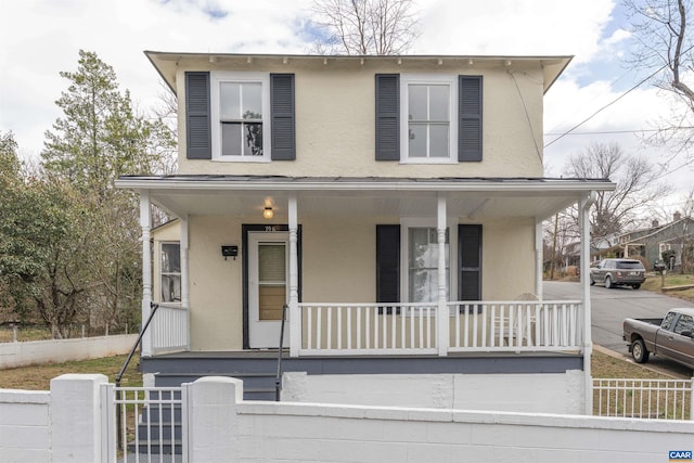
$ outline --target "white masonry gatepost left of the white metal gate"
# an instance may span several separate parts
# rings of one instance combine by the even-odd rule
[[[64,374],[51,380],[51,446],[53,462],[99,462],[101,385],[103,374]]]

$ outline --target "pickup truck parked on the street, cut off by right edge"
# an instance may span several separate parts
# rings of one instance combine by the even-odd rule
[[[626,319],[622,330],[638,363],[653,353],[694,369],[694,308],[671,309],[663,319]]]

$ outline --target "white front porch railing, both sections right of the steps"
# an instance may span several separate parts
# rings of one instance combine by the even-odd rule
[[[299,304],[299,356],[434,355],[467,351],[577,351],[582,304],[448,303],[449,336],[439,337],[436,304]],[[293,326],[296,329],[296,326]],[[438,346],[438,340],[448,346]]]

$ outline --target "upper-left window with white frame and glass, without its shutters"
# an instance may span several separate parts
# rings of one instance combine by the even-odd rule
[[[269,75],[211,73],[211,146],[218,160],[270,160]]]

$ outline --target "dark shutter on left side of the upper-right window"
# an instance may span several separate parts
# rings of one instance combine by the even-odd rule
[[[376,160],[400,160],[398,74],[376,74]]]

